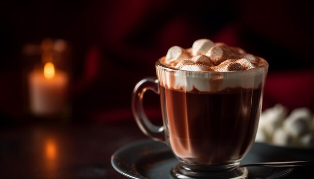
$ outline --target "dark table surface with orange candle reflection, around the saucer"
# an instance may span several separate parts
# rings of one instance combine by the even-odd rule
[[[126,178],[112,168],[111,155],[147,139],[133,121],[0,129],[0,178]],[[288,178],[313,176],[312,170],[297,169]]]

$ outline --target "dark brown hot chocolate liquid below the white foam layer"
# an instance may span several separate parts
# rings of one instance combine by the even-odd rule
[[[261,88],[182,92],[160,88],[169,144],[178,157],[199,164],[238,160],[254,141]]]

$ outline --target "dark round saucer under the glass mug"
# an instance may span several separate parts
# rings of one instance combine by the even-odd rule
[[[294,161],[293,154],[282,148],[262,143],[254,143],[241,164],[267,161]],[[167,145],[153,140],[141,140],[118,149],[111,157],[115,170],[129,178],[172,178],[170,170],[178,164]],[[272,167],[247,167],[249,178],[267,175]],[[281,176],[288,175],[293,169],[285,169]]]

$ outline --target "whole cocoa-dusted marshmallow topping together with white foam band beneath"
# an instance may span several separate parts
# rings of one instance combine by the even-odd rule
[[[158,64],[160,84],[183,92],[258,88],[264,85],[268,69],[263,58],[209,39],[196,40],[188,49],[173,46]]]

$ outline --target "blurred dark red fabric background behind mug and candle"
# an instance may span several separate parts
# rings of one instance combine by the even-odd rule
[[[314,111],[313,2],[286,0],[56,0],[1,2],[0,120],[24,124],[22,47],[46,37],[72,46],[73,122],[132,120],[136,82],[155,76],[169,47],[199,38],[239,46],[269,62],[264,108]],[[147,113],[161,117],[158,96]]]

